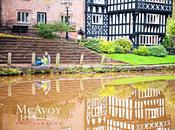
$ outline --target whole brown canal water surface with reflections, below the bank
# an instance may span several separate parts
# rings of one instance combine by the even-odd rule
[[[0,130],[173,128],[173,72],[0,78]]]

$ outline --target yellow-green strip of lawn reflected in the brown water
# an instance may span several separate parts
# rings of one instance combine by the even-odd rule
[[[109,85],[134,84],[139,82],[158,81],[158,80],[175,80],[175,76],[167,75],[167,76],[143,76],[143,77],[121,78],[111,81]]]

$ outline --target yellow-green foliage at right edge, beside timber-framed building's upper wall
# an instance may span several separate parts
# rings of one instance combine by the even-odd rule
[[[167,21],[167,34],[175,35],[175,19],[168,19]]]

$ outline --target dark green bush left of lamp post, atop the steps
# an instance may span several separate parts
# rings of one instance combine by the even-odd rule
[[[42,38],[54,39],[56,35],[53,33],[55,31],[53,24],[40,24],[38,26],[38,34]]]

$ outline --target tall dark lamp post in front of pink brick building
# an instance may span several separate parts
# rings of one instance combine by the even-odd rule
[[[69,8],[72,5],[71,0],[63,0],[63,4],[66,7],[66,24],[67,24],[67,32],[66,32],[66,39],[69,39]]]

